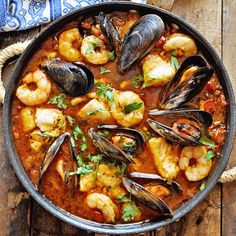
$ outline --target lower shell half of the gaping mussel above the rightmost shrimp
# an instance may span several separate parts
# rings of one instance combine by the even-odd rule
[[[190,136],[186,135],[182,132],[178,132],[173,130],[171,127],[167,125],[163,125],[156,120],[153,120],[151,118],[147,119],[148,125],[160,136],[168,139],[169,141],[173,143],[180,143],[182,145],[198,145],[198,140],[200,139],[200,136]]]

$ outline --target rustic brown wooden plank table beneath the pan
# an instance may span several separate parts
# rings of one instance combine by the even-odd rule
[[[175,0],[172,12],[191,23],[214,46],[236,89],[236,0]],[[41,29],[0,34],[0,49],[33,38]],[[13,64],[5,67],[4,81],[12,68]],[[93,235],[57,219],[29,197],[12,170],[2,135],[0,153],[0,235]],[[236,142],[228,167],[234,165]],[[221,234],[236,235],[236,183],[217,184],[209,196],[180,221],[145,235]]]

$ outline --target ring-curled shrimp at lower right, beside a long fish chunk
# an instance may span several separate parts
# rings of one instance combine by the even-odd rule
[[[207,149],[204,146],[186,146],[181,152],[179,167],[185,171],[189,181],[199,181],[208,176],[212,160],[206,160]],[[190,161],[195,163],[190,165]]]

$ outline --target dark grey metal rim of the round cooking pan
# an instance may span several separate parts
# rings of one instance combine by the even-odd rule
[[[47,39],[54,33],[58,32],[64,25],[75,20],[78,16],[83,16],[85,14],[97,15],[100,11],[108,13],[112,11],[128,11],[128,10],[137,10],[141,14],[150,14],[150,13],[157,14],[163,19],[164,22],[177,24],[178,26],[180,26],[180,30],[182,32],[186,32],[186,34],[191,35],[195,39],[195,42],[197,43],[198,48],[203,53],[203,56],[215,69],[215,72],[217,73],[218,78],[220,80],[220,84],[224,89],[226,101],[228,103],[227,134],[221,158],[219,159],[215,168],[211,171],[211,174],[208,176],[205,189],[197,193],[192,199],[190,199],[188,202],[184,203],[177,210],[175,210],[174,216],[172,218],[169,219],[163,218],[156,222],[146,222],[146,223],[140,222],[132,224],[117,224],[117,225],[100,224],[74,216],[66,212],[65,210],[57,207],[55,204],[53,204],[51,201],[49,201],[35,189],[34,185],[31,183],[29,177],[27,176],[21,164],[19,156],[16,151],[14,137],[12,133],[12,120],[11,120],[12,101],[14,98],[16,86],[18,83],[18,79],[20,78],[21,72],[25,68],[26,64],[28,63],[32,55],[38,50],[40,44],[45,39]],[[181,18],[173,15],[172,13],[153,6],[135,4],[130,2],[116,2],[116,3],[113,2],[113,3],[104,3],[85,7],[54,21],[52,24],[46,27],[37,36],[37,38],[28,46],[28,48],[25,50],[25,52],[22,54],[17,64],[15,65],[6,89],[6,96],[3,107],[3,130],[4,130],[4,138],[5,138],[7,153],[10,157],[12,166],[18,178],[20,179],[21,183],[24,185],[26,190],[46,210],[48,210],[58,218],[64,220],[65,222],[88,231],[104,233],[104,234],[119,234],[119,235],[129,234],[129,233],[142,233],[160,228],[162,226],[166,226],[180,219],[190,210],[192,210],[197,204],[199,204],[207,196],[207,194],[211,191],[211,189],[215,186],[223,170],[225,169],[225,166],[228,162],[231,149],[233,146],[234,131],[235,131],[234,106],[235,106],[235,101],[234,101],[232,85],[230,83],[229,77],[220,58],[218,57],[212,46],[206,41],[206,39],[202,35],[200,35],[192,26],[187,24]]]

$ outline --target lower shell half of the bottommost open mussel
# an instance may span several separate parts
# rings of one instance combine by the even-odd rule
[[[165,216],[173,215],[172,210],[161,198],[146,190],[142,185],[127,177],[123,177],[123,184],[126,190],[143,205],[150,207],[151,209],[158,211]]]

